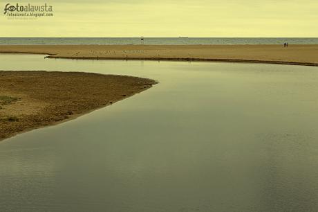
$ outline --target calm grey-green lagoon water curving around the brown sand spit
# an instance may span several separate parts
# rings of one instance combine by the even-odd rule
[[[160,81],[1,142],[0,211],[318,211],[317,67],[0,61]]]

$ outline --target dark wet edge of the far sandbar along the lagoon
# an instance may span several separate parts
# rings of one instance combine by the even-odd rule
[[[213,59],[213,58],[96,58],[96,57],[63,57],[49,55],[45,58],[51,59],[71,59],[71,60],[155,60],[155,61],[187,61],[187,62],[243,62],[243,63],[262,63],[262,64],[286,64],[297,66],[318,67],[318,63],[311,62],[288,62],[277,60],[243,60],[243,59]]]

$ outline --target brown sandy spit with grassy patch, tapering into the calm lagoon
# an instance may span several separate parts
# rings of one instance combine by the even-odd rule
[[[154,84],[146,78],[97,73],[0,71],[0,141],[77,118]]]

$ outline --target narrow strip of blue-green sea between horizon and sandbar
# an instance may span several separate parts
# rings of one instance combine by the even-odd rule
[[[0,45],[245,45],[318,44],[318,37],[0,37]]]

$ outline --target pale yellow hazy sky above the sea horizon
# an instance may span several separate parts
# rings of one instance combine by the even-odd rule
[[[53,6],[8,18],[7,3]],[[0,1],[0,37],[318,37],[317,0]]]

